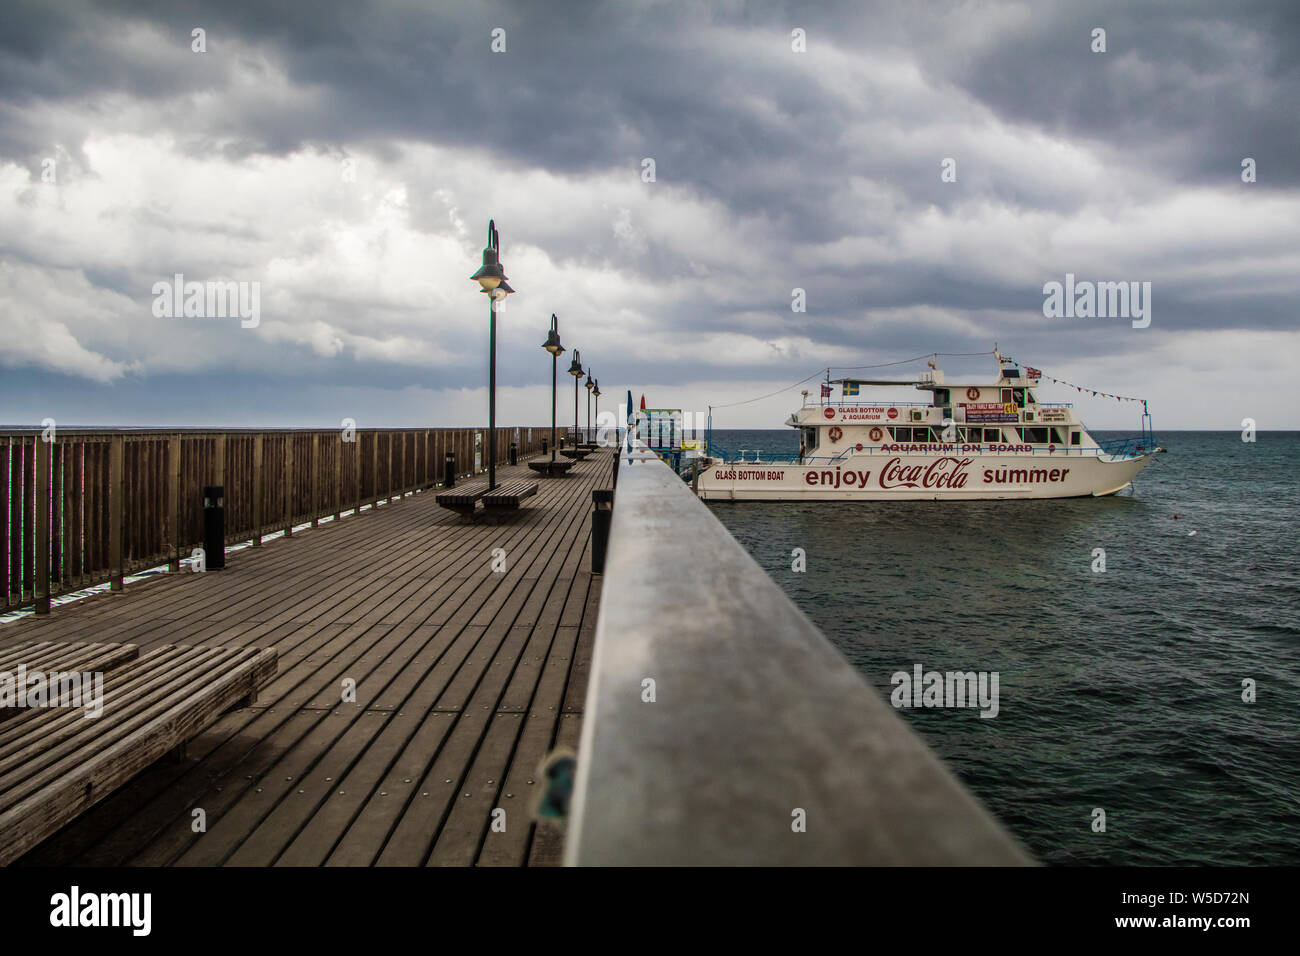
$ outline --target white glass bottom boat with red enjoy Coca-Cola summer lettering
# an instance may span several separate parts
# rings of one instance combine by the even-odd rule
[[[810,402],[788,425],[800,454],[736,460],[707,457],[701,498],[737,501],[883,501],[1076,498],[1115,494],[1164,449],[1143,414],[1143,433],[1097,441],[1072,405],[1041,403],[1041,373],[997,358],[994,381],[946,382],[931,371],[909,381],[840,378],[841,401]],[[858,402],[861,385],[928,392],[930,402]]]

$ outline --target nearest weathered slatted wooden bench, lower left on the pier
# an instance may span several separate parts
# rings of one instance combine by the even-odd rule
[[[0,724],[0,865],[30,851],[276,674],[272,648],[166,644],[104,678],[103,711],[31,708]]]

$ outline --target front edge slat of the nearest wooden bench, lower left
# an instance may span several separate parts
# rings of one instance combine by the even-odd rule
[[[9,864],[136,773],[202,732],[276,672],[276,650],[239,648],[233,666],[211,669],[179,695],[157,702],[147,719],[108,747],[87,748],[74,766],[0,812],[0,865]]]

